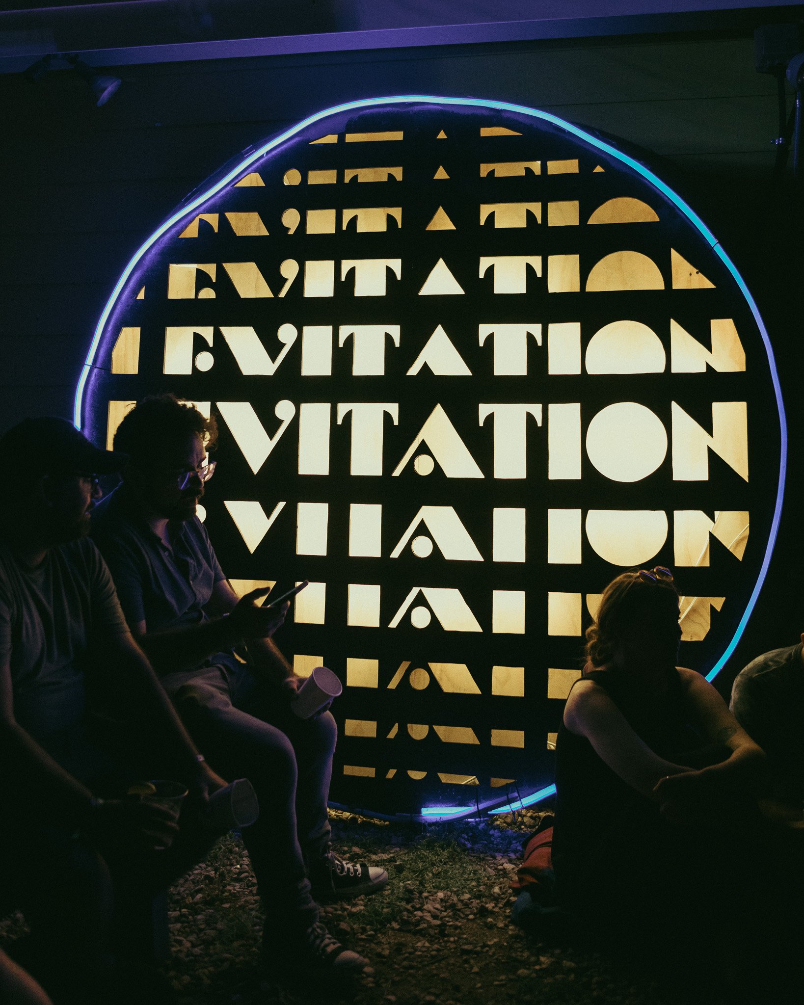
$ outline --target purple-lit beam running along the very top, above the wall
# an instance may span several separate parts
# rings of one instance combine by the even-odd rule
[[[78,53],[91,66],[125,66],[434,45],[750,32],[767,21],[795,20],[802,10],[795,0],[42,4],[0,12],[0,72],[20,72],[48,53]],[[493,20],[484,19],[491,16]]]

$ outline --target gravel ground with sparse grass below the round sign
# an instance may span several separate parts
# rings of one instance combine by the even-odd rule
[[[538,820],[539,814],[526,814],[401,827],[334,813],[337,850],[381,864],[390,875],[388,886],[373,896],[323,909],[330,931],[374,968],[341,1000],[686,1005],[688,997],[632,967],[540,942],[511,925],[511,879],[523,838]],[[205,863],[171,888],[169,924],[171,955],[161,970],[181,1005],[337,1000],[331,988],[291,993],[260,981],[261,909],[236,835],[219,842]],[[6,920],[0,942],[23,931],[19,916]]]

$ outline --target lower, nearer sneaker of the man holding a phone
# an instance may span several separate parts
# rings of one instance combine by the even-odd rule
[[[323,977],[351,978],[373,973],[369,961],[347,949],[316,922],[297,939],[262,947],[267,975],[279,981],[316,981]]]

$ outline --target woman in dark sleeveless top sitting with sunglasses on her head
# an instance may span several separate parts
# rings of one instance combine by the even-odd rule
[[[560,907],[593,940],[674,969],[699,952],[717,972],[724,926],[746,920],[735,894],[751,876],[731,873],[765,758],[715,687],[676,667],[678,618],[666,569],[603,591],[556,745],[553,865]]]

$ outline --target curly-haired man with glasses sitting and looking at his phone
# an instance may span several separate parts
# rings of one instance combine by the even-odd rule
[[[263,807],[243,839],[265,909],[266,966],[278,976],[285,967],[362,971],[366,961],[319,922],[317,900],[374,892],[388,876],[331,847],[337,730],[329,712],[300,721],[290,711],[299,679],[270,638],[287,604],[260,608],[266,591],[238,600],[196,516],[216,434],[213,420],[172,395],[141,401],[115,435],[131,460],[93,515],[92,536],[196,743],[227,774],[247,776]],[[247,662],[234,652],[242,643]]]

